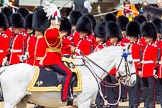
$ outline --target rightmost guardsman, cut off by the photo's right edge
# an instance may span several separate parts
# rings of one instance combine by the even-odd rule
[[[156,83],[156,102],[161,104],[162,107],[162,66],[161,66],[161,54],[162,54],[162,20],[159,18],[155,18],[152,21],[157,30],[157,39],[155,41],[155,44],[158,47],[158,53],[157,53],[157,62],[156,62],[156,67],[155,67],[155,73],[154,76],[157,78],[157,83]]]

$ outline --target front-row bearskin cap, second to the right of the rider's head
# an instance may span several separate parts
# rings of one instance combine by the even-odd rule
[[[87,16],[82,16],[79,18],[76,24],[76,31],[77,32],[85,32],[90,35],[92,33],[92,21]]]

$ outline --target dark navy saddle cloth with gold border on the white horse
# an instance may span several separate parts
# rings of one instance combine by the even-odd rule
[[[74,65],[74,61],[71,57],[63,57],[62,62],[72,72],[76,74],[77,81],[73,84],[73,91],[79,92],[82,90],[81,76],[77,66]],[[62,84],[59,79],[62,77],[57,72],[51,72],[45,68],[34,66],[35,73],[30,82],[28,91],[61,91]]]

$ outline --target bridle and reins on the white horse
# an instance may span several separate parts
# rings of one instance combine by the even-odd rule
[[[128,45],[127,51],[129,51],[129,48],[130,48],[130,44]],[[117,74],[119,74],[118,77],[115,77],[115,76],[109,74],[112,78],[114,78],[114,79],[117,80],[117,83],[115,83],[115,84],[112,84],[112,83],[109,83],[109,82],[107,82],[107,81],[102,80],[102,78],[100,78],[100,77],[95,73],[95,70],[93,70],[93,68],[90,68],[91,65],[90,65],[89,62],[91,62],[92,64],[94,64],[94,65],[97,66],[98,68],[100,68],[100,69],[104,72],[104,74],[108,74],[107,71],[106,71],[105,69],[103,69],[101,66],[99,66],[98,64],[96,64],[93,60],[91,60],[90,58],[88,58],[87,56],[85,56],[83,53],[82,53],[83,61],[84,61],[85,63],[89,64],[89,66],[87,66],[86,64],[84,64],[84,65],[82,65],[82,66],[86,66],[86,67],[90,70],[90,72],[92,73],[92,75],[95,77],[95,79],[99,79],[99,80],[101,81],[101,85],[103,85],[103,86],[105,86],[105,87],[117,87],[117,86],[120,85],[120,83],[126,84],[128,81],[130,81],[131,76],[134,75],[134,74],[136,74],[135,72],[134,72],[134,73],[131,73],[131,72],[130,72],[130,69],[129,69],[129,66],[128,66],[128,62],[129,62],[129,61],[127,60],[127,58],[128,58],[128,56],[129,56],[130,54],[131,54],[130,52],[126,52],[126,49],[123,49],[123,54],[121,55],[122,58],[121,58],[121,60],[120,60],[119,65],[117,66]],[[122,63],[123,60],[124,60],[124,62],[125,62],[125,71],[126,71],[126,75],[123,75],[123,76],[122,76],[122,75],[120,74],[119,68],[120,68],[121,63]],[[133,63],[133,61],[132,61],[132,63]]]

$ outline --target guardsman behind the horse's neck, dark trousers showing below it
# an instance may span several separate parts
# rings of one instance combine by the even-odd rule
[[[121,43],[122,40],[122,33],[121,29],[118,24],[115,22],[110,21],[109,23],[106,24],[106,36],[108,37],[107,41],[107,46],[124,46]],[[113,68],[110,71],[110,74],[113,76],[116,76],[116,68]],[[113,77],[108,78],[111,83],[117,83],[116,79]],[[106,95],[109,103],[116,103],[118,100],[118,87],[113,87],[113,88],[107,88],[106,89]],[[113,105],[111,108],[117,108],[118,105]]]

